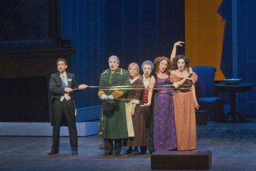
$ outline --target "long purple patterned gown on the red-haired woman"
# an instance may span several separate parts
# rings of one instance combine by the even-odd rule
[[[154,97],[154,147],[155,151],[167,151],[177,148],[177,138],[174,120],[173,92],[169,86],[170,77],[156,80],[158,89]],[[168,88],[168,89],[164,89]]]

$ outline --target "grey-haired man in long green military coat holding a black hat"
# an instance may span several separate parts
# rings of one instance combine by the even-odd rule
[[[106,111],[103,107],[101,108],[98,135],[100,138],[104,138],[105,142],[105,153],[103,156],[113,155],[113,141],[115,142],[114,156],[118,156],[121,151],[122,139],[128,138],[125,100],[123,100],[127,89],[119,88],[118,90],[111,90],[111,88],[129,86],[130,82],[129,73],[119,68],[119,59],[117,56],[109,57],[109,66],[110,69],[103,71],[100,75],[100,90],[98,95],[103,102],[114,100],[118,108],[112,111]]]

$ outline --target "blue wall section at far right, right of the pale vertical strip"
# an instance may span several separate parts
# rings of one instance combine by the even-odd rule
[[[238,77],[256,86],[256,1],[237,1]],[[256,116],[256,88],[238,93],[238,111],[244,116]]]

